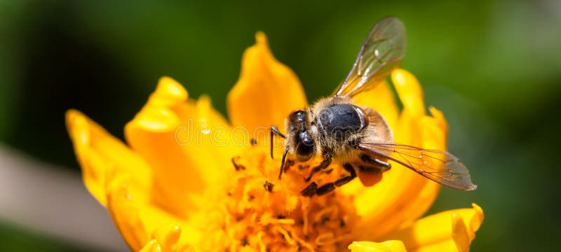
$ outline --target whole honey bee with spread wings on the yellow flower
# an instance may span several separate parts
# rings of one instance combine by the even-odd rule
[[[358,174],[376,174],[391,169],[393,163],[412,169],[417,174],[443,186],[475,190],[468,169],[446,151],[407,146],[393,142],[393,132],[383,116],[353,97],[381,83],[398,68],[405,55],[405,27],[398,18],[384,18],[366,37],[349,74],[332,97],[319,99],[311,107],[290,113],[285,120],[286,136],[271,127],[271,158],[274,135],[285,139],[280,165],[281,178],[287,155],[306,162],[316,155],[323,160],[311,168],[309,182],[335,161],[348,172],[337,181],[318,186],[309,183],[301,194],[306,197],[325,195],[355,179]]]

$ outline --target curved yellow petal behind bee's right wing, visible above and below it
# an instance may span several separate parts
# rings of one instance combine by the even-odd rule
[[[411,73],[398,69],[392,78],[404,104],[394,129],[395,142],[445,150],[447,127],[442,113],[432,109],[434,117],[431,117],[425,115],[424,107],[417,108],[424,106],[423,95]],[[360,239],[377,240],[396,228],[410,225],[428,210],[440,190],[437,183],[396,163],[383,177],[372,188],[356,193],[355,205],[364,220],[364,227],[358,229],[363,230],[358,231]],[[372,226],[377,228],[368,228]]]

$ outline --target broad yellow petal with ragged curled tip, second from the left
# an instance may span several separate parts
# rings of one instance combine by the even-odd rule
[[[125,127],[128,144],[154,167],[156,204],[186,217],[207,185],[221,185],[239,151],[230,127],[208,97],[187,100],[187,91],[161,78],[147,104]],[[207,169],[213,167],[213,169]]]

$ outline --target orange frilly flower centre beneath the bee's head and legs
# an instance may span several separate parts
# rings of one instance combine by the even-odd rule
[[[279,180],[280,160],[272,160],[262,147],[250,146],[243,155],[232,158],[231,169],[236,175],[222,192],[219,205],[224,207],[212,215],[219,219],[209,220],[215,223],[206,230],[221,234],[220,242],[208,239],[202,247],[213,251],[345,250],[353,241],[353,226],[359,219],[352,196],[337,190],[323,196],[302,196],[300,192],[308,185],[304,178],[310,171],[299,167],[313,167],[318,161],[287,162]],[[318,173],[312,181],[323,184],[344,176],[336,165],[331,170],[335,172]],[[217,244],[223,247],[217,248]]]

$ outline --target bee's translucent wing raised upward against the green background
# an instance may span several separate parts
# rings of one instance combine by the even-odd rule
[[[351,72],[334,96],[353,97],[384,80],[400,66],[405,44],[405,26],[398,18],[389,17],[377,22],[360,48]]]

